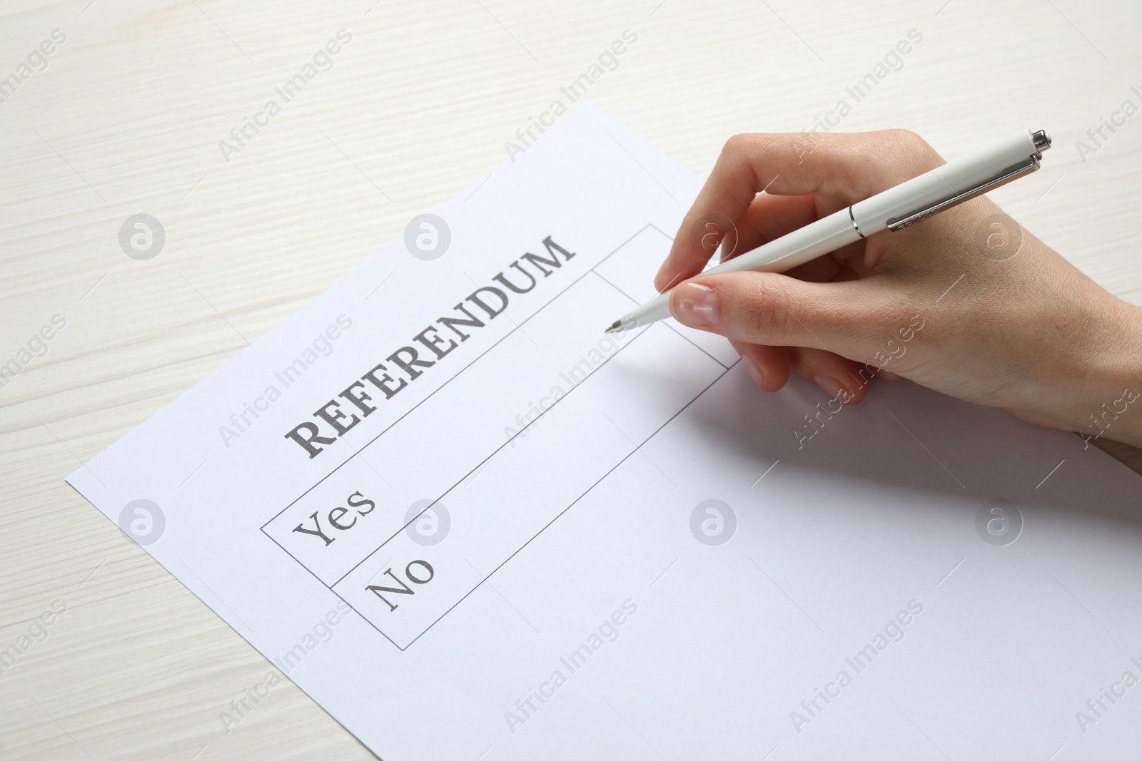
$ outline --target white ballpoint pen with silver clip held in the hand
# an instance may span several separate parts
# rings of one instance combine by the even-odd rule
[[[1051,138],[1023,130],[982,151],[950,161],[884,193],[858,201],[828,217],[705,270],[703,275],[745,269],[779,273],[855,243],[887,228],[899,230],[1039,168]],[[670,316],[669,289],[614,321],[608,333],[649,325]]]

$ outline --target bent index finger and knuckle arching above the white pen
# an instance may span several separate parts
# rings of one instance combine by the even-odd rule
[[[705,225],[716,216],[737,225],[763,189],[772,195],[815,194],[820,216],[939,162],[939,155],[923,140],[899,130],[812,138],[804,133],[732,137],[683,219],[654,286],[665,291],[701,272],[710,254],[701,244]]]

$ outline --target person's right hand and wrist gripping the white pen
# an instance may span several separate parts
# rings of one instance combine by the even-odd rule
[[[741,253],[942,163],[902,130],[812,141],[739,135],[654,284],[685,281],[670,311],[729,338],[767,391],[790,369],[845,403],[860,402],[874,377],[907,378],[1032,423],[1142,446],[1142,308],[986,197],[785,274],[698,275],[710,220],[733,222],[725,240],[737,237]]]

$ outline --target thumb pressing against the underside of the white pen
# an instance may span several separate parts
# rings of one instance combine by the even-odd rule
[[[700,275],[670,293],[683,325],[765,346],[825,349],[868,362],[891,323],[875,278],[810,283],[777,273]],[[899,300],[899,296],[895,300]]]

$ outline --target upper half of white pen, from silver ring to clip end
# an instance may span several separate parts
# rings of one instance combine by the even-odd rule
[[[1002,173],[998,170],[1026,163],[1038,153],[1031,131],[1022,130],[1000,143],[854,203],[853,219],[867,237],[885,229],[891,220],[906,217],[909,211],[926,209],[958,191],[984,184]]]

